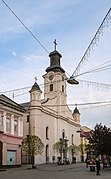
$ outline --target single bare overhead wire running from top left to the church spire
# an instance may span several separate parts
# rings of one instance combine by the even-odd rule
[[[31,32],[31,30],[23,23],[23,21],[15,14],[15,12],[9,7],[9,5],[2,0],[4,5],[9,9],[9,11],[17,18],[17,20],[24,26],[24,28],[30,33],[30,35],[39,43],[39,45],[49,54],[48,50],[44,47],[44,45],[40,42],[40,40]]]

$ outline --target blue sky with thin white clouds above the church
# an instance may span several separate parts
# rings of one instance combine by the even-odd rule
[[[0,92],[22,88],[16,90],[17,95],[14,93],[14,100],[18,103],[29,101],[29,89],[26,93],[24,88],[34,84],[35,76],[43,91],[42,75],[49,66],[48,55],[54,50],[54,39],[57,40],[57,50],[62,54],[61,66],[67,77],[73,74],[111,7],[111,0],[5,2],[36,37],[32,37],[1,0]],[[96,123],[111,127],[111,102],[98,106],[86,105],[111,101],[111,19],[108,19],[107,25],[103,27],[90,55],[80,66],[77,76],[79,85],[67,83],[67,103],[70,109],[73,111],[77,104],[81,113],[81,125],[90,128],[94,128]],[[80,75],[101,67],[101,64],[109,65],[108,69]],[[20,95],[22,93],[24,95]],[[4,94],[10,96],[12,93]]]

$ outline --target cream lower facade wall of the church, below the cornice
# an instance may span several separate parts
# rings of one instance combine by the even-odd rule
[[[50,111],[50,110],[49,110]],[[80,144],[80,134],[77,131],[80,129],[80,126],[74,123],[70,124],[66,118],[58,118],[56,113],[51,115],[51,111],[43,111],[40,108],[36,109],[36,113],[31,113],[32,116],[35,116],[35,121],[30,116],[30,123],[32,128],[34,128],[33,132],[35,131],[34,135],[37,135],[41,138],[42,142],[44,143],[44,152],[41,155],[35,156],[35,164],[46,163],[46,147],[48,146],[48,162],[52,162],[52,157],[55,156],[57,161],[58,154],[54,153],[53,151],[53,144],[59,141],[62,138],[62,131],[65,131],[65,138],[68,140],[68,146],[72,144],[72,135],[73,135],[73,143],[76,146]],[[36,115],[35,115],[36,114]],[[29,124],[30,125],[30,124]],[[29,128],[29,125],[26,122],[26,126]],[[25,126],[25,131],[28,131]],[[48,127],[48,136],[46,136],[46,128]],[[31,133],[30,133],[31,134]],[[71,162],[71,154],[68,153],[67,156]],[[77,155],[77,161],[80,161],[80,156]]]

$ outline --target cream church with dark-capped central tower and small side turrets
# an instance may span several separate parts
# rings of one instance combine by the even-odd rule
[[[53,156],[58,155],[53,151],[53,144],[59,139],[66,139],[68,146],[80,144],[80,113],[71,111],[67,105],[67,77],[61,67],[62,55],[56,50],[49,54],[50,66],[46,68],[44,78],[44,99],[42,91],[35,80],[30,90],[30,101],[21,104],[25,109],[24,137],[37,135],[45,145],[42,155],[35,156],[35,164],[52,162]],[[70,153],[67,153],[71,161]],[[77,155],[77,160],[80,160]],[[23,161],[24,162],[24,161]]]

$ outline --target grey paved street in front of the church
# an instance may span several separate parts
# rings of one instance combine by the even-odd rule
[[[102,169],[100,176],[96,172],[90,172],[85,164],[57,165],[46,164],[38,165],[37,169],[31,169],[31,166],[22,166],[21,168],[7,169],[0,172],[0,179],[111,179],[111,169]]]

